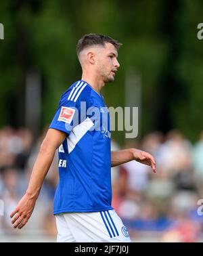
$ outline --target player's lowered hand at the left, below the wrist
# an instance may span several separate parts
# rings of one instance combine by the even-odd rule
[[[14,217],[12,219],[12,224],[14,228],[22,228],[28,222],[28,219],[32,215],[32,211],[35,207],[35,198],[31,198],[28,194],[25,194],[20,202],[18,202],[18,206],[12,212],[10,217]]]

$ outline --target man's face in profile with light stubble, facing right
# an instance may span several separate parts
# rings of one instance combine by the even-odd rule
[[[99,47],[96,55],[97,73],[104,83],[111,83],[115,79],[115,74],[120,66],[118,63],[118,52],[112,43],[106,43],[105,47]]]

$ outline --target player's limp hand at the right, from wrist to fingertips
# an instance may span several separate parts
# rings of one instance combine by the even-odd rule
[[[135,161],[152,167],[152,170],[154,171],[154,173],[156,173],[156,162],[152,154],[145,151],[133,149],[133,157]]]

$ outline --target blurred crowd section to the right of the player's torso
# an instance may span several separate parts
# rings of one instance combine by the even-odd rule
[[[203,133],[194,145],[174,130],[150,133],[125,147],[150,152],[157,167],[153,173],[147,165],[131,161],[114,175],[113,206],[132,236],[158,232],[163,242],[202,239],[198,201],[203,198]]]

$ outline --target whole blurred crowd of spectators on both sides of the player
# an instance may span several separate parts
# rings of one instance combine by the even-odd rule
[[[15,230],[9,217],[26,191],[45,132],[34,140],[26,128],[0,129],[0,237],[56,234],[52,203],[58,184],[57,152],[27,225]],[[131,236],[136,240],[143,232],[156,232],[163,242],[198,241],[203,233],[203,212],[198,211],[203,198],[203,132],[191,144],[179,131],[156,131],[125,148],[150,152],[157,166],[157,173],[136,161],[112,168],[112,206]],[[112,150],[119,149],[112,142]]]

